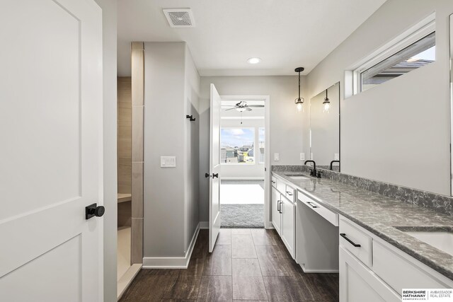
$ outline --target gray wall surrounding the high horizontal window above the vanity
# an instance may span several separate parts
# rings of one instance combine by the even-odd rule
[[[433,11],[436,62],[343,100],[345,70]],[[310,96],[341,83],[343,173],[449,194],[450,13],[451,0],[388,0],[307,76]]]

